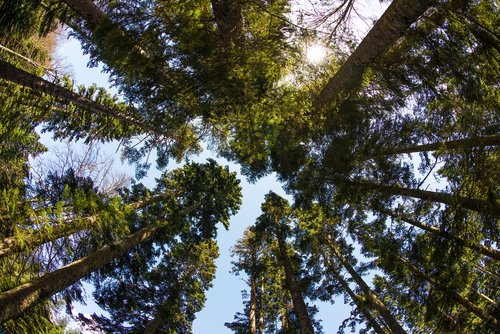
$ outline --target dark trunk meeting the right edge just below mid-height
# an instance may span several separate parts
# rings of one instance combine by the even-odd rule
[[[351,181],[348,179],[338,180],[344,182],[348,186],[358,187],[366,190],[375,190],[388,195],[413,197],[448,205],[458,204],[466,209],[486,215],[497,215],[498,212],[500,212],[500,203],[498,203],[498,201],[486,201],[476,198],[451,195],[443,192],[403,188],[399,186],[386,186],[368,181]]]

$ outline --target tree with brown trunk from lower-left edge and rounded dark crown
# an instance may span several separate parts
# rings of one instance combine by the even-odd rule
[[[222,181],[222,182],[221,182]],[[215,224],[222,222],[227,227],[228,219],[240,203],[240,188],[234,174],[216,165],[212,160],[205,165],[191,164],[167,175],[163,181],[174,189],[182,189],[180,202],[170,199],[163,210],[164,216],[156,223],[113,242],[90,255],[40,278],[0,294],[0,304],[5,310],[2,322],[18,316],[29,307],[50,297],[82,277],[104,266],[113,259],[128,253],[168,226],[172,221],[173,231],[180,233],[182,240],[204,240],[215,236]],[[174,192],[175,193],[175,192]],[[213,196],[214,194],[221,195]],[[223,196],[222,196],[223,195]],[[173,202],[171,202],[173,200]],[[168,212],[173,212],[172,217]],[[166,214],[166,215],[165,215]],[[187,215],[189,218],[184,218]],[[167,221],[165,221],[167,220]],[[179,233],[179,232],[177,232]]]

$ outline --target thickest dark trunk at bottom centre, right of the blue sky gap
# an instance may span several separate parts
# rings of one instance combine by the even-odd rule
[[[314,334],[312,321],[309,317],[309,313],[307,312],[306,303],[304,302],[304,298],[302,297],[301,289],[299,287],[297,279],[295,278],[295,272],[293,270],[290,257],[288,256],[285,239],[279,232],[277,233],[276,237],[278,239],[278,247],[282,265],[285,270],[286,283],[292,296],[293,310],[295,311],[295,314],[297,314],[297,318],[299,319],[300,333]]]

